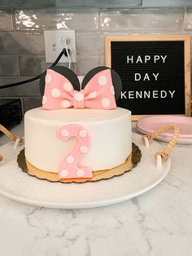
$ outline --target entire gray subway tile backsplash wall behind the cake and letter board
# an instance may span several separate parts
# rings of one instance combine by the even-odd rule
[[[191,33],[191,0],[0,0],[0,86],[42,73],[43,30],[76,30],[77,63],[85,75],[104,64],[106,35]],[[68,66],[68,63],[61,64]],[[41,105],[38,81],[0,90],[0,98],[24,99],[24,110]]]

